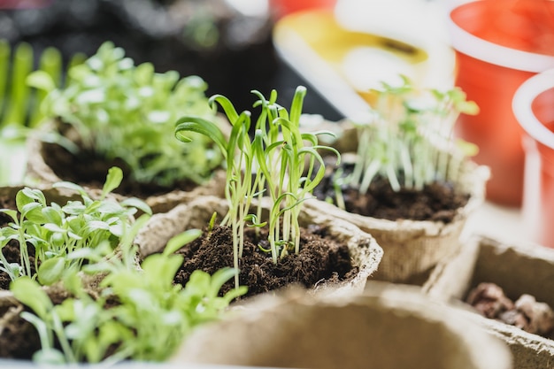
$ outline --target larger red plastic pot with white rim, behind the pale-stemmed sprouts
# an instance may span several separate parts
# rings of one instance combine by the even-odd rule
[[[450,10],[456,50],[455,84],[480,113],[462,114],[457,135],[479,146],[474,158],[489,165],[488,200],[519,206],[523,196],[523,131],[512,112],[517,88],[554,67],[554,1],[480,0]]]

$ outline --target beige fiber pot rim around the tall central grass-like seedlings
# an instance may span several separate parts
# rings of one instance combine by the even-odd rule
[[[315,200],[308,200],[304,204],[311,201]],[[137,234],[135,242],[140,247],[142,257],[145,257],[162,250],[171,237],[184,230],[203,229],[210,222],[214,211],[221,219],[227,213],[227,209],[227,200],[216,196],[199,196],[188,204],[177,205],[171,211],[154,214]],[[269,204],[264,204],[264,210],[268,209]],[[317,225],[327,228],[327,236],[345,243],[350,250],[352,265],[358,266],[358,274],[353,280],[343,281],[339,285],[320,283],[313,291],[333,289],[337,294],[361,292],[367,279],[377,270],[383,254],[373,236],[342,219],[305,207],[300,213],[299,223],[300,227]]]

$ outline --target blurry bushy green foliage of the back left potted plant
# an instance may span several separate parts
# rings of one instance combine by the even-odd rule
[[[43,73],[31,77],[36,88],[49,91],[42,103],[46,117],[72,125],[79,134],[80,148],[65,148],[120,158],[134,181],[201,184],[221,165],[219,151],[205,137],[187,146],[173,139],[173,122],[182,115],[214,119],[206,83],[197,76],[180,80],[174,71],[156,73],[151,63],[135,65],[124,50],[104,42],[95,55],[69,69],[64,88],[55,88]]]

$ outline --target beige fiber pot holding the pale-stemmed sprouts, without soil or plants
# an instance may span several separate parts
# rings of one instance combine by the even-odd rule
[[[343,133],[331,144],[336,148],[356,148],[354,128],[342,122]],[[355,149],[354,149],[355,150]],[[466,220],[485,200],[485,183],[489,180],[489,168],[465,161],[455,179],[457,191],[469,195],[467,204],[458,209],[452,222],[377,219],[343,211],[323,201],[307,202],[306,208],[312,211],[332,214],[344,219],[361,230],[372,234],[384,251],[379,269],[373,278],[410,284],[422,284],[431,269],[442,259],[449,258],[461,247],[460,234]]]

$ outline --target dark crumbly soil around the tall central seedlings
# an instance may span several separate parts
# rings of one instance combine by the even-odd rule
[[[269,249],[266,230],[260,234],[248,229],[240,260],[239,283],[248,286],[246,296],[297,284],[311,288],[321,282],[347,281],[358,273],[358,267],[350,262],[350,251],[346,245],[338,244],[326,237],[321,227],[304,228],[301,231],[300,252],[290,253],[273,264],[271,254],[260,249]],[[258,247],[258,245],[260,247]],[[233,235],[229,227],[214,227],[190,242],[177,252],[185,257],[185,263],[177,273],[175,282],[185,285],[190,274],[200,269],[215,273],[223,267],[233,266]],[[234,281],[227,281],[221,294],[235,288]]]

